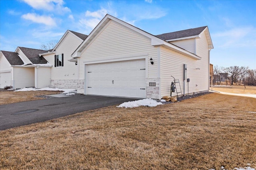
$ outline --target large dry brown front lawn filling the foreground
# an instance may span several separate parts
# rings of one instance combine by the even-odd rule
[[[0,131],[0,169],[256,168],[256,99],[217,93]]]

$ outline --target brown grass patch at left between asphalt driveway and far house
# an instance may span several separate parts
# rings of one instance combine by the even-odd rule
[[[0,91],[0,105],[10,104],[17,102],[25,102],[31,100],[40,100],[35,96],[58,94],[60,91],[27,91],[27,92],[14,92],[14,91]]]

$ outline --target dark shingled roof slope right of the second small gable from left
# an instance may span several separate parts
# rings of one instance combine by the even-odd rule
[[[45,52],[44,50],[39,49],[30,49],[25,47],[18,47],[26,57],[31,61],[33,64],[47,64],[46,59],[44,57],[39,56],[38,54]]]

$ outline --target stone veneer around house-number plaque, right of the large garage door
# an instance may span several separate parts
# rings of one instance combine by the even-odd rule
[[[156,86],[149,86],[150,82],[156,82]],[[159,99],[160,78],[146,78],[146,98]]]

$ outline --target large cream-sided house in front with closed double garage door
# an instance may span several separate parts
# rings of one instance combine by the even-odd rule
[[[211,49],[207,26],[155,36],[107,14],[70,61],[78,63],[78,93],[161,99],[171,76],[182,94],[208,91]]]

